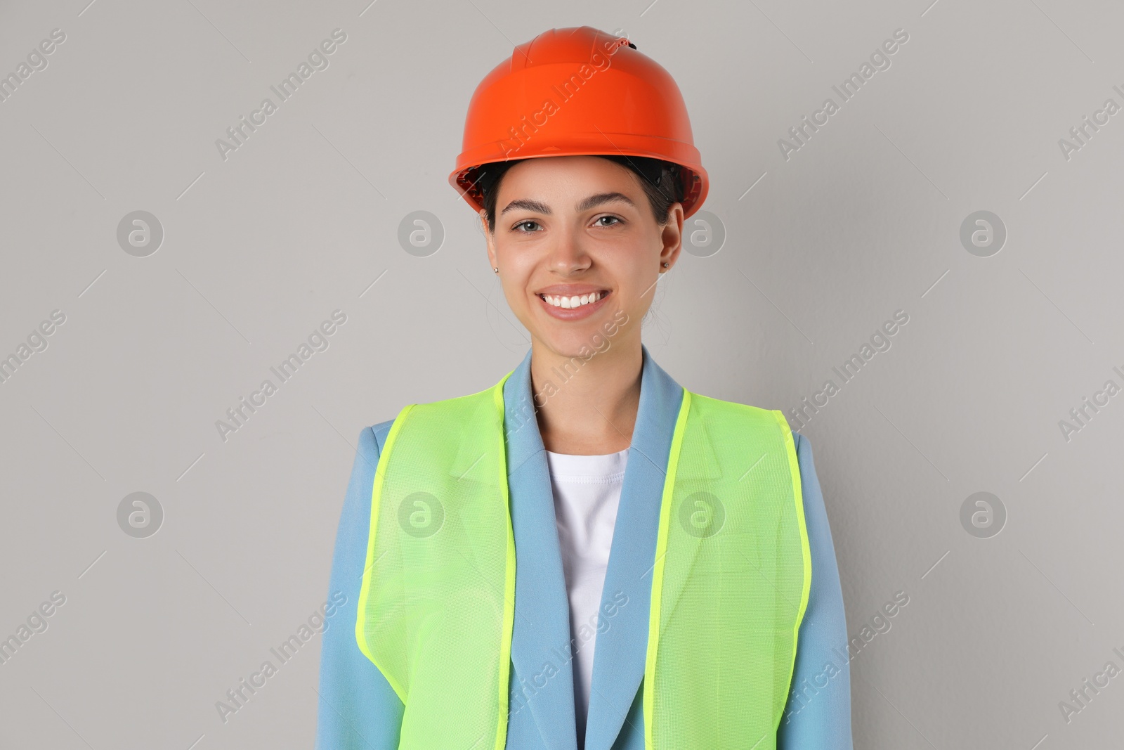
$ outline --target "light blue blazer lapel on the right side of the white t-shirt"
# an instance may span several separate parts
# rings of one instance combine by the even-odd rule
[[[610,750],[644,677],[660,499],[683,398],[682,386],[655,363],[646,346],[641,349],[640,407],[601,594],[599,615],[605,625],[593,649],[586,750]],[[643,726],[631,720],[629,724],[625,731],[642,737]]]

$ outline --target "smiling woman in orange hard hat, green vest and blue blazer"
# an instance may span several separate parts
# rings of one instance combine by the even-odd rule
[[[532,347],[363,431],[318,747],[850,750],[807,439],[641,343],[708,189],[674,81],[546,31],[478,87],[450,181]]]

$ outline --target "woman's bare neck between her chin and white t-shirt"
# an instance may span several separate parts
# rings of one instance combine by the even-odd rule
[[[544,448],[574,455],[628,448],[643,362],[640,341],[614,342],[588,360],[533,344],[531,388]]]

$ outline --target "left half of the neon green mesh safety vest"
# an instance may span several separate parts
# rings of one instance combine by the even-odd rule
[[[406,706],[400,750],[505,744],[515,540],[502,382],[407,406],[375,469],[355,636]]]

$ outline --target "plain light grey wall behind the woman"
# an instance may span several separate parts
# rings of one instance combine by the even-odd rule
[[[1124,114],[1058,145],[1124,105],[1117,3],[87,2],[0,4],[3,74],[66,34],[0,102],[0,353],[66,316],[0,385],[0,636],[66,596],[0,666],[0,746],[311,744],[319,635],[227,723],[215,703],[327,598],[360,430],[526,351],[446,177],[484,73],[583,24],[679,81],[725,227],[644,329],[677,380],[788,412],[909,315],[801,428],[849,634],[909,596],[852,661],[855,747],[1120,742],[1124,677],[1069,723],[1058,706],[1124,667],[1124,396],[1068,442],[1058,425],[1124,383]],[[223,161],[215,141],[337,27],[329,66]],[[786,161],[778,139],[898,28],[891,66]],[[163,226],[147,257],[117,243],[135,210]],[[425,257],[398,242],[417,210],[445,233]],[[977,210],[1008,233],[989,257],[960,243]],[[223,442],[215,422],[335,309],[329,347]],[[136,491],[164,513],[146,539],[117,523]],[[977,491],[998,535],[961,526]]]

